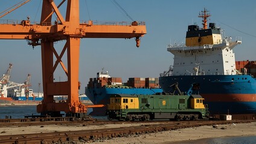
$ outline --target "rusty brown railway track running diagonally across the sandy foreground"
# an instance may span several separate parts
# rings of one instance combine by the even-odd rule
[[[92,125],[106,123],[97,121]],[[118,121],[109,121],[112,124],[120,124]],[[115,123],[116,122],[116,123]],[[139,122],[139,121],[138,121]],[[150,121],[149,121],[150,122]],[[54,131],[53,133],[33,133],[33,134],[12,134],[0,136],[1,143],[56,143],[56,142],[88,142],[96,139],[110,139],[112,137],[122,137],[128,135],[156,133],[159,131],[177,130],[180,128],[199,127],[202,125],[220,125],[246,123],[255,121],[152,121],[139,122],[139,126],[104,128],[97,130],[77,130],[77,131]],[[126,123],[126,122],[123,122]],[[134,122],[133,122],[134,123]],[[75,123],[73,123],[75,125]]]

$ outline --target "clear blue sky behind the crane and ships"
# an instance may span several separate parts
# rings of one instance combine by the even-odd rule
[[[4,11],[20,1],[1,0],[0,11]],[[167,70],[169,65],[173,64],[173,55],[167,52],[167,44],[170,44],[170,40],[175,40],[176,43],[185,42],[188,25],[197,23],[202,27],[202,19],[197,15],[204,7],[212,15],[208,22],[217,23],[217,26],[225,30],[226,36],[242,37],[242,44],[234,49],[236,60],[256,60],[256,36],[248,35],[256,35],[256,1],[254,0],[116,1],[132,19],[146,22],[147,34],[141,38],[141,47],[139,48],[136,47],[134,39],[82,39],[79,76],[82,89],[80,94],[84,93],[84,87],[89,78],[96,77],[96,73],[103,67],[104,70],[109,71],[110,76],[122,77],[123,82],[126,82],[129,77],[159,77],[159,73]],[[55,2],[58,5],[60,0]],[[25,20],[27,16],[30,16],[31,21],[39,22],[41,8],[41,0],[31,0],[0,20]],[[61,8],[64,17],[65,9],[65,7]],[[55,19],[55,16],[53,18]],[[80,0],[80,20],[89,19],[131,21],[114,5],[112,0]],[[55,47],[60,50],[63,43],[58,43]],[[0,74],[4,74],[8,64],[12,63],[11,80],[22,83],[30,73],[32,88],[37,92],[38,83],[42,83],[40,46],[33,49],[28,46],[26,40],[0,40],[0,49]],[[54,77],[65,80],[65,74],[58,71]]]

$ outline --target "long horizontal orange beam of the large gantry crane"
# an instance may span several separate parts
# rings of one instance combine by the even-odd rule
[[[27,20],[24,20],[27,21]],[[146,34],[145,25],[91,25],[80,24],[75,28],[75,32],[70,32],[65,25],[0,25],[0,39],[21,39],[31,40],[33,38],[48,37],[54,40],[66,40],[65,36],[77,35],[80,38],[133,38],[142,37]]]

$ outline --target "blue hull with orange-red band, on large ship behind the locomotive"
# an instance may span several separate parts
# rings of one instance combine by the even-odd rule
[[[199,83],[193,94],[205,98],[212,114],[255,114],[256,80],[249,75],[162,76],[159,85],[164,92],[174,92],[170,87],[178,82],[179,89],[187,92],[192,83]]]

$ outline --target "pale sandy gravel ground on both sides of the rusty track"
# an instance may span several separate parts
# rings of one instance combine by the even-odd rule
[[[150,122],[149,122],[150,124]],[[101,128],[129,127],[141,124],[106,124],[106,125],[37,125],[27,127],[1,127],[0,135],[26,134],[26,133],[47,133],[54,131],[75,131],[93,130]],[[144,124],[145,125],[145,124]],[[179,130],[162,131],[159,133],[129,135],[126,137],[115,137],[109,140],[94,140],[95,144],[137,144],[137,143],[174,143],[188,140],[208,139],[213,137],[228,136],[256,136],[256,122],[245,124],[211,125],[194,128],[184,128]],[[92,142],[92,141],[91,141]]]

